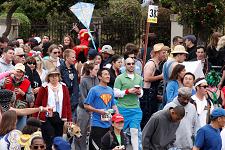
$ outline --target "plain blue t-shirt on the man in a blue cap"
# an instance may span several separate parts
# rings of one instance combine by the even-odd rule
[[[207,124],[200,128],[195,138],[195,146],[201,150],[221,150],[220,130]]]

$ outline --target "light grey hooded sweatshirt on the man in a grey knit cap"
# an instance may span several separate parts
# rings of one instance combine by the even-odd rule
[[[172,102],[168,103],[164,107],[164,110],[176,106],[182,106],[177,100],[177,97],[175,97]],[[177,128],[174,146],[182,149],[192,149],[194,137],[197,130],[200,128],[198,114],[195,106],[190,102],[184,106],[184,109],[185,116],[180,121],[180,125]]]

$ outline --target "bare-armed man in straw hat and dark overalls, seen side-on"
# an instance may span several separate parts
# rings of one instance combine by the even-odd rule
[[[163,79],[159,65],[166,59],[166,48],[167,46],[163,43],[155,44],[152,59],[144,67],[144,94],[141,100],[141,108],[144,112],[142,125],[145,125],[151,115],[158,110],[158,85]]]

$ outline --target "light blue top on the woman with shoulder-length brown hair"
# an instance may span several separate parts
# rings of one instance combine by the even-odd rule
[[[173,101],[173,99],[178,95],[179,83],[177,80],[170,80],[166,86],[166,97],[167,102]]]

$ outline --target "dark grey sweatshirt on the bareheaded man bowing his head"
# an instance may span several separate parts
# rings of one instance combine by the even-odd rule
[[[173,122],[170,110],[154,113],[142,131],[143,150],[168,150],[176,138],[180,122]]]

